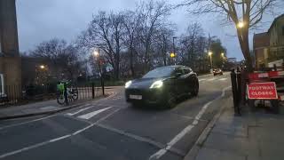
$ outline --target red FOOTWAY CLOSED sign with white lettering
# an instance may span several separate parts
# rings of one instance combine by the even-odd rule
[[[248,84],[247,89],[248,99],[278,99],[276,84],[274,82]]]

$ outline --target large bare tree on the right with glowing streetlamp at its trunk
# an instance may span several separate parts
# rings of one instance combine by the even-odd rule
[[[249,54],[248,33],[262,20],[264,12],[272,11],[272,7],[280,0],[186,0],[193,13],[218,12],[225,14],[229,22],[236,27],[241,45],[241,52],[246,59],[248,69],[252,70]],[[192,9],[191,9],[192,8]]]

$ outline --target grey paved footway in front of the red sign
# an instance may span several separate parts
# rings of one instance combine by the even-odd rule
[[[185,160],[282,160],[284,157],[284,110],[274,115],[264,108],[248,107],[234,116],[232,97],[212,125],[201,134]]]

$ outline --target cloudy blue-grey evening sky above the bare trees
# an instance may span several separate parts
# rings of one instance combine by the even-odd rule
[[[182,0],[168,0],[169,4],[177,4],[180,1]],[[21,52],[32,50],[36,44],[53,37],[72,41],[87,28],[93,13],[132,9],[137,3],[135,0],[17,0],[16,2]],[[252,35],[254,32],[267,30],[272,20],[272,16],[265,17],[266,25],[252,31]],[[237,37],[233,36],[234,28],[221,25],[222,20],[219,15],[196,17],[189,15],[186,8],[178,8],[170,15],[170,21],[177,24],[177,34],[185,32],[186,26],[190,23],[201,23],[206,34],[221,39],[227,48],[228,57],[242,59]]]

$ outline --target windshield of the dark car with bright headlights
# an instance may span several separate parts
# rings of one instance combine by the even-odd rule
[[[175,68],[170,68],[170,67],[155,68],[154,70],[148,72],[142,78],[159,78],[159,77],[170,76],[171,73],[174,71],[174,69]]]

